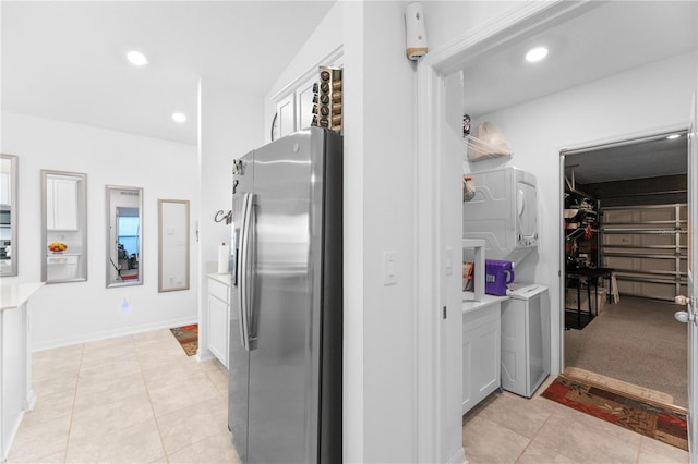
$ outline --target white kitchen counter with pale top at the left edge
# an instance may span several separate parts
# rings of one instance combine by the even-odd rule
[[[0,288],[0,462],[4,462],[22,416],[34,407],[29,300],[44,283]]]

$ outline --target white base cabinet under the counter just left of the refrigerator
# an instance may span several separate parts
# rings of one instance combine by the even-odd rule
[[[229,274],[208,277],[208,350],[226,367],[230,330],[229,280]]]

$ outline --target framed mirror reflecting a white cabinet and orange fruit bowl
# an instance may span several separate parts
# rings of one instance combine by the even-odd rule
[[[87,280],[87,174],[41,170],[41,281]]]

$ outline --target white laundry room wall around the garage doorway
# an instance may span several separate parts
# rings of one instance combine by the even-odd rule
[[[538,178],[539,253],[517,268],[517,279],[550,286],[553,350],[561,337],[561,149],[685,129],[695,88],[696,53],[689,52],[478,118],[505,132],[509,164]],[[551,362],[556,369],[559,358]]]

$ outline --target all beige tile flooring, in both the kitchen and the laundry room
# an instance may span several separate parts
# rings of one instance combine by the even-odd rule
[[[34,353],[36,406],[8,462],[239,463],[227,374],[186,356],[169,330]],[[469,464],[688,462],[682,450],[538,395],[493,393],[465,416],[462,437]]]

